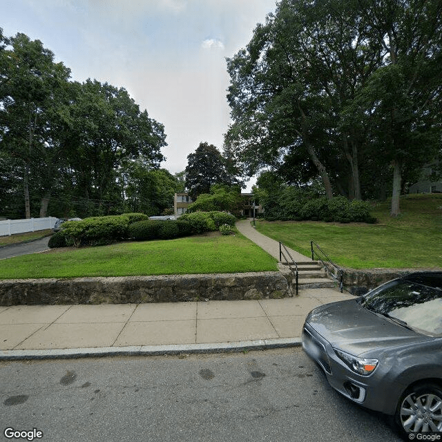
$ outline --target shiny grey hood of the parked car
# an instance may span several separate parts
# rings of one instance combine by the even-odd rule
[[[378,348],[432,339],[374,314],[363,308],[356,299],[317,307],[309,313],[306,323],[332,347],[355,356]]]

